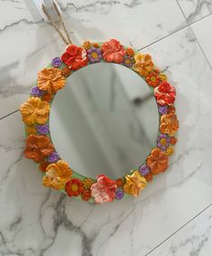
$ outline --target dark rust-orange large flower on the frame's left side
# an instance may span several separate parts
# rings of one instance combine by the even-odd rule
[[[43,135],[31,134],[26,140],[24,155],[28,159],[41,162],[54,151],[50,139]]]

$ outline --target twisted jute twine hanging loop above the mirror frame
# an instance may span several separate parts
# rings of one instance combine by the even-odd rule
[[[48,19],[49,19],[49,23],[51,23],[51,25],[55,28],[55,30],[58,32],[60,38],[66,43],[66,45],[72,44],[72,41],[71,41],[71,39],[70,39],[70,37],[69,37],[69,34],[68,34],[67,30],[66,30],[66,25],[65,25],[65,23],[64,23],[64,21],[63,21],[63,18],[62,18],[62,16],[61,16],[61,14],[59,13],[59,10],[58,10],[58,8],[57,8],[57,5],[55,4],[54,1],[53,1],[53,6],[54,6],[55,11],[56,11],[56,13],[57,13],[57,16],[58,16],[58,18],[59,18],[59,22],[60,22],[61,25],[62,25],[63,31],[64,31],[65,34],[66,34],[66,38],[65,38],[65,36],[63,35],[63,33],[60,32],[60,30],[58,29],[57,23],[53,22],[53,20],[51,19],[50,15],[49,15],[49,13],[47,12],[47,9],[45,8],[44,5],[42,5],[43,13],[46,14],[46,16],[47,16]]]

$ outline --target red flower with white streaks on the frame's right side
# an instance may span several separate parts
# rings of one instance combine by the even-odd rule
[[[155,98],[159,105],[172,105],[175,101],[176,91],[169,83],[163,82],[155,87]]]

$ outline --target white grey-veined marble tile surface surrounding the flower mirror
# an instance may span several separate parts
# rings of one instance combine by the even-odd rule
[[[170,169],[140,197],[92,206],[42,187],[37,167],[22,156],[15,111],[64,45],[31,1],[0,1],[0,255],[211,256],[210,43],[189,25],[192,10],[182,2],[189,1],[61,3],[73,41],[116,37],[149,52],[178,91],[181,129]],[[205,34],[209,17],[195,22]]]

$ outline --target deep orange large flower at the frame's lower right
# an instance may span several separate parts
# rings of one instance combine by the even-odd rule
[[[148,156],[146,164],[151,169],[152,173],[158,174],[167,169],[168,157],[163,151],[155,148],[153,151],[151,151],[151,155]]]

